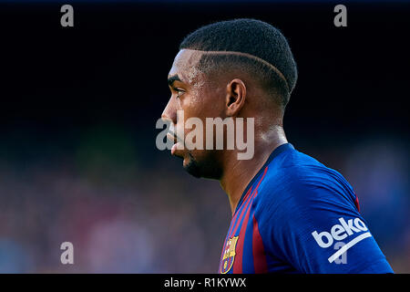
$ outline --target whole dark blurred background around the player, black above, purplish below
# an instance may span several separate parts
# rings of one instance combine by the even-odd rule
[[[231,220],[216,181],[159,151],[181,39],[254,17],[287,36],[288,140],[343,173],[396,273],[410,273],[410,5],[0,3],[0,272],[216,273]],[[60,7],[74,6],[71,28]],[[74,245],[75,265],[60,263]]]

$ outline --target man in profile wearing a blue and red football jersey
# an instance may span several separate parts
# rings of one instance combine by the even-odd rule
[[[393,273],[349,183],[286,140],[282,119],[296,79],[284,36],[254,19],[201,27],[182,41],[170,69],[162,119],[175,125],[171,153],[190,174],[219,180],[231,204],[219,272]],[[253,118],[252,158],[238,159],[238,149],[184,148],[175,134],[193,117],[235,125]]]

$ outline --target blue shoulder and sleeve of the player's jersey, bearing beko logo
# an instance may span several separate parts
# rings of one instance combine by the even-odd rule
[[[372,271],[392,271],[342,174],[294,150],[267,167],[252,204],[267,253],[305,273],[369,272],[376,262]],[[337,265],[345,242],[348,265]]]

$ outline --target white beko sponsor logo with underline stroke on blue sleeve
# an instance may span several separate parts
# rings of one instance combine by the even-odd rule
[[[313,231],[313,238],[319,246],[327,248],[333,245],[334,240],[341,241],[348,236],[368,230],[364,222],[359,218],[349,219],[347,222],[343,218],[339,218],[339,222],[340,224],[334,224],[332,226],[330,233],[326,231],[321,233],[318,233],[316,230]],[[339,258],[340,255],[343,255],[350,247],[370,236],[372,236],[370,232],[366,232],[365,234],[354,237],[354,239],[343,245],[336,253],[328,258],[329,263],[332,263],[336,258]]]

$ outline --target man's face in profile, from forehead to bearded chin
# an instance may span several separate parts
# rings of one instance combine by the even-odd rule
[[[184,137],[187,137],[187,134],[194,130],[194,128],[186,129],[188,119],[199,118],[205,125],[205,118],[221,117],[223,114],[223,90],[198,69],[201,54],[189,49],[180,50],[169,71],[171,97],[161,117],[164,120],[172,121],[175,125],[174,132],[183,132]],[[180,117],[177,119],[177,111],[179,110],[183,110],[183,120]],[[206,135],[205,129],[203,130],[203,145],[205,145]],[[173,137],[169,138],[173,140]],[[172,147],[171,153],[183,159],[184,169],[196,177],[218,179],[220,167],[218,167],[216,151],[188,150],[185,142],[181,141],[180,138]],[[178,149],[177,144],[179,147],[183,145],[184,149]]]

